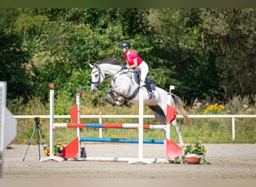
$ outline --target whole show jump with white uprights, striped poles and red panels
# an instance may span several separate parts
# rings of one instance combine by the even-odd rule
[[[174,89],[174,87],[170,87]],[[50,155],[40,159],[41,162],[46,160],[56,160],[56,161],[64,161],[64,158],[76,158],[82,160],[90,160],[90,161],[122,161],[136,163],[136,162],[144,162],[147,164],[151,164],[153,162],[168,162],[167,159],[144,159],[143,158],[143,144],[165,144],[165,140],[157,140],[157,139],[144,139],[143,138],[143,129],[165,129],[166,131],[166,141],[170,140],[170,122],[176,118],[176,111],[174,108],[172,109],[172,117],[167,117],[169,120],[166,125],[143,125],[143,107],[144,101],[143,99],[143,88],[140,88],[139,91],[139,115],[138,115],[138,123],[80,123],[80,96],[81,93],[76,93],[76,106],[70,111],[71,118],[76,121],[76,123],[54,123],[54,90],[50,90],[50,133],[49,133],[49,147],[50,147]],[[170,103],[171,93],[168,93],[167,103]],[[170,107],[170,105],[167,105]],[[54,129],[57,127],[65,127],[65,128],[76,128],[77,129],[77,138],[72,141],[67,147],[64,147],[64,153],[67,157],[64,158],[54,156],[53,147],[54,147]],[[81,138],[80,137],[80,128],[115,128],[115,129],[138,129],[138,139],[127,139],[127,138]],[[82,158],[81,153],[81,141],[94,141],[94,142],[115,142],[115,143],[136,143],[138,144],[138,158],[121,158],[121,157],[85,157]],[[173,142],[174,143],[174,142]],[[174,144],[174,146],[176,146]],[[177,146],[178,149],[181,150],[180,147]],[[166,144],[167,149],[167,144]],[[75,153],[69,153],[71,150]],[[168,152],[168,151],[167,151]],[[71,156],[70,156],[71,155]]]

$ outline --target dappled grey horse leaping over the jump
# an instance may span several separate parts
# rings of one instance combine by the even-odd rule
[[[91,91],[99,91],[100,85],[106,78],[106,75],[109,75],[112,76],[112,88],[109,89],[109,93],[105,96],[107,102],[118,106],[123,105],[125,99],[128,99],[130,102],[139,102],[139,82],[137,80],[137,73],[135,70],[122,70],[122,61],[119,61],[116,58],[110,58],[100,64],[89,65],[92,68]],[[143,89],[143,91],[144,105],[148,105],[148,107],[153,111],[153,114],[159,124],[165,124],[168,92],[164,91],[162,88],[155,87],[153,89],[155,98],[149,99],[147,90]],[[171,106],[184,117],[186,124],[190,125],[189,117],[183,108],[182,102],[174,93],[171,93]],[[180,146],[184,147],[180,126],[178,125],[177,120],[175,119],[171,123],[179,135]]]

